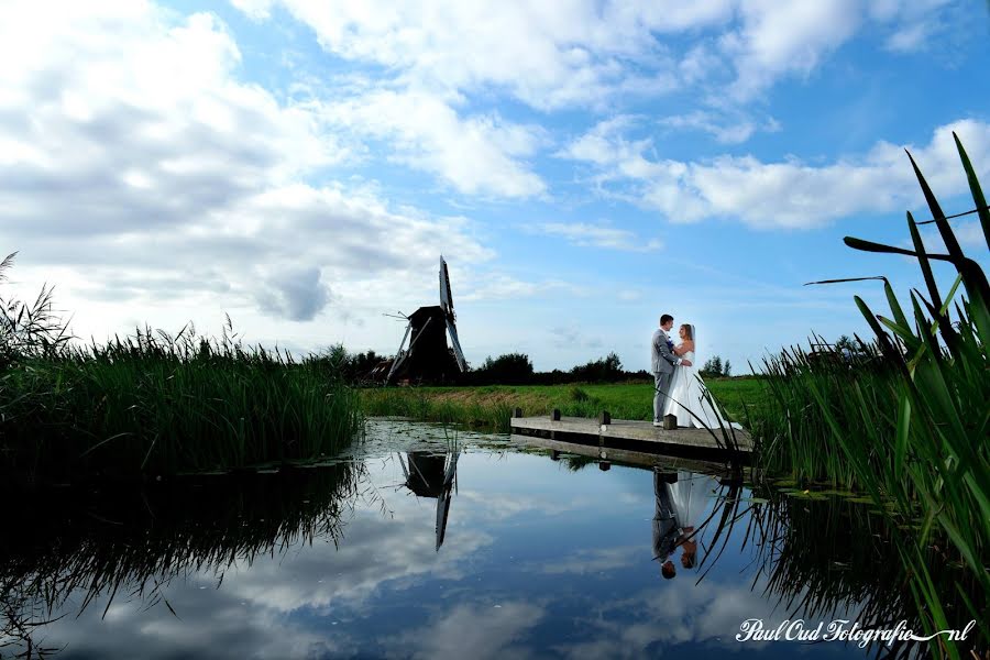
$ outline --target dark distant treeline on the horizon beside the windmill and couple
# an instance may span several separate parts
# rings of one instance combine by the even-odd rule
[[[367,374],[389,356],[374,351],[349,353],[342,345],[332,346],[320,358],[333,366],[334,372],[344,374],[352,383],[367,382]],[[728,360],[717,355],[705,363],[702,377],[728,376]],[[627,371],[615,353],[571,367],[569,371],[554,369],[538,372],[526,353],[505,353],[498,358],[488,356],[480,367],[469,371],[451,384],[457,385],[563,385],[568,383],[620,383],[624,381],[649,381],[653,376],[646,370]]]

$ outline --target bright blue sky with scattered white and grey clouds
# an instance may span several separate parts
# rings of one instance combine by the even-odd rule
[[[886,310],[804,283],[923,289],[843,237],[931,218],[905,148],[971,209],[954,131],[990,186],[988,36],[976,0],[3,0],[0,296],[394,353],[442,254],[474,365],[648,369],[671,314],[748,373]]]

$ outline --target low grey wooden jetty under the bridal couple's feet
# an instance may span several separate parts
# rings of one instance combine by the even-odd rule
[[[684,457],[724,459],[729,453],[737,453],[748,458],[752,451],[752,439],[740,429],[710,432],[707,429],[661,428],[649,421],[612,419],[607,413],[600,415],[598,419],[561,417],[559,410],[543,417],[522,417],[518,409],[516,414],[510,420],[512,432],[516,436]],[[713,432],[718,439],[713,437]],[[722,440],[724,432],[734,433],[738,452],[725,447]]]

